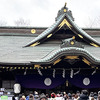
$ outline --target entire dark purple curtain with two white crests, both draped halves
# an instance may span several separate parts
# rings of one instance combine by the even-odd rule
[[[51,79],[51,85],[45,85],[44,80],[46,78]],[[88,85],[83,84],[84,78],[89,78],[90,83]],[[51,89],[63,84],[66,80],[80,88],[100,88],[100,74],[88,76],[77,74],[73,76],[73,78],[70,78],[69,75],[66,75],[66,78],[63,78],[62,75],[56,75],[55,78],[53,78],[52,75],[40,76],[39,74],[16,76],[16,82],[20,83],[21,86],[25,88]]]

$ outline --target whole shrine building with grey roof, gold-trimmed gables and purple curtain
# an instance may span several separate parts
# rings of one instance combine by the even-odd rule
[[[0,27],[0,87],[100,89],[100,29],[74,20],[65,4],[50,27]]]

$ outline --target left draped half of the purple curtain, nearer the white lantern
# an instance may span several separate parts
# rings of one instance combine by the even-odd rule
[[[44,80],[50,78],[52,83],[50,86],[46,86]],[[38,89],[51,89],[63,84],[66,79],[57,75],[55,78],[52,76],[40,76],[36,75],[18,75],[16,80],[25,88],[38,88]]]

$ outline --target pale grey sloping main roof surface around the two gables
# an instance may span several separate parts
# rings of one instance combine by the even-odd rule
[[[30,64],[30,62],[35,62],[36,59],[42,61],[60,51],[60,41],[48,41],[36,47],[22,47],[32,39],[33,37],[26,36],[0,36],[0,63]],[[100,48],[85,45],[84,49],[87,54],[92,55],[91,58],[94,61],[99,62]],[[66,48],[66,50],[69,50],[69,48]]]

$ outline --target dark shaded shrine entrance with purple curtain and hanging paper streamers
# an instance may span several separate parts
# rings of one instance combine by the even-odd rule
[[[81,57],[78,59],[61,58],[62,60],[56,61],[49,68],[34,69],[32,66],[29,66],[27,70],[27,67],[20,67],[20,69],[18,67],[13,70],[5,68],[0,73],[2,76],[1,87],[13,88],[15,83],[19,83],[22,92],[38,91],[39,93],[57,93],[59,91],[75,93],[82,89],[96,91],[97,88],[100,88],[99,69],[91,68]]]

